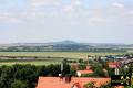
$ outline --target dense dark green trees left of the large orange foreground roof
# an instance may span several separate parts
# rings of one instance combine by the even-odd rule
[[[60,65],[0,66],[0,88],[35,88],[39,76],[59,76]],[[64,75],[70,74],[70,66],[64,65]]]

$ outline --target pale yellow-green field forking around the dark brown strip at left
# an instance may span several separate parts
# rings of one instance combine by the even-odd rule
[[[0,56],[44,56],[44,57],[53,57],[52,59],[44,59],[44,61],[6,61],[1,62],[0,65],[13,65],[13,64],[34,64],[34,65],[49,65],[49,64],[58,64],[61,63],[63,57],[71,58],[71,59],[79,59],[83,58],[86,59],[88,55],[94,56],[94,55],[117,55],[123,53],[90,53],[90,52],[0,52]],[[58,57],[62,57],[58,58]]]

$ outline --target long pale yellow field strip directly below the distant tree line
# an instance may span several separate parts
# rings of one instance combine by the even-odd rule
[[[123,53],[89,53],[89,52],[0,52],[0,56],[50,56],[68,58],[86,58],[88,55],[117,55]]]

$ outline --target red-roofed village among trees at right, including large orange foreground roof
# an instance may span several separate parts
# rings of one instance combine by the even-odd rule
[[[90,56],[84,59],[64,59],[71,66],[71,74],[63,76],[63,64],[59,77],[38,79],[37,88],[125,88],[111,86],[111,75],[131,75],[133,85],[133,54]],[[132,88],[132,87],[127,87]]]

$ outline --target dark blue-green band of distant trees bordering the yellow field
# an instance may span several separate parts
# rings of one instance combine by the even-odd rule
[[[10,46],[0,48],[0,52],[126,52],[126,48],[96,48],[83,45],[55,45],[55,46]]]

